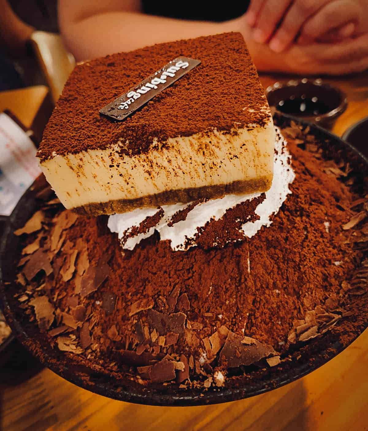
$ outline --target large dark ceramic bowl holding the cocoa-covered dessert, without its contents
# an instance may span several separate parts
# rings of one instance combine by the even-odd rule
[[[280,127],[288,127],[291,121],[278,114],[275,115],[274,120]],[[309,125],[309,123],[302,122],[299,124]],[[309,126],[308,133],[315,135],[318,141],[323,142],[323,150],[327,158],[349,161],[350,166],[354,169],[356,183],[360,187],[368,176],[368,159],[336,135],[315,125]],[[34,322],[29,322],[24,311],[19,308],[19,301],[14,298],[14,294],[19,290],[18,285],[14,282],[16,278],[14,262],[17,262],[21,245],[19,237],[12,232],[24,225],[38,209],[40,202],[37,201],[36,194],[34,187],[24,194],[9,217],[0,241],[0,284],[2,285],[0,294],[3,299],[4,314],[18,340],[44,365],[66,380],[96,394],[115,400],[157,406],[198,406],[253,397],[295,381],[324,365],[368,327],[368,317],[356,321],[343,320],[340,324],[342,330],[346,328],[343,338],[330,331],[305,344],[295,345],[289,350],[290,361],[283,361],[272,368],[260,369],[255,365],[244,367],[234,374],[231,380],[228,379],[230,384],[227,387],[221,389],[209,388],[209,390],[203,391],[203,389],[193,388],[187,390],[171,385],[155,384],[146,387],[132,381],[129,375],[119,380],[111,378],[106,373],[104,374],[103,370],[88,364],[78,355],[67,356],[63,352],[53,349],[47,336],[40,332]],[[368,308],[368,299],[365,297],[357,299],[361,306],[363,300],[367,301]]]

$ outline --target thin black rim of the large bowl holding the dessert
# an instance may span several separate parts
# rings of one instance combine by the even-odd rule
[[[280,116],[276,114],[276,117],[281,118],[281,122],[288,122],[290,124],[290,120],[293,120],[301,125],[309,126],[312,132],[315,131],[317,132],[317,134],[321,134],[323,137],[328,137],[329,139],[332,139],[334,143],[338,143],[340,147],[347,148],[352,153],[355,153],[356,156],[358,156],[359,161],[363,162],[368,169],[368,158],[351,144],[349,144],[349,142],[343,141],[337,135],[326,131],[324,128],[321,128],[318,125],[300,120],[293,116]],[[29,192],[29,189],[27,192]],[[26,198],[27,192],[25,193],[25,195],[23,195],[23,197],[17,204],[16,208],[14,209],[14,212],[16,212],[17,210],[22,211],[22,200]],[[3,256],[4,247],[6,247],[7,244],[7,238],[9,237],[9,235],[12,235],[10,218],[11,216],[9,217],[9,222],[4,229],[4,235],[0,239],[0,258],[1,256]],[[104,379],[102,377],[86,379],[83,376],[78,375],[78,373],[75,372],[76,365],[72,362],[72,359],[67,358],[67,364],[65,365],[65,363],[63,363],[60,359],[62,352],[52,350],[50,348],[52,351],[50,354],[50,352],[46,350],[46,347],[41,344],[39,339],[30,337],[27,331],[25,331],[25,328],[19,322],[19,320],[16,319],[12,311],[12,307],[10,306],[8,297],[6,295],[7,290],[8,289],[6,289],[6,282],[3,280],[3,262],[0,261],[0,297],[3,300],[4,315],[16,338],[18,338],[21,344],[25,346],[34,356],[36,356],[40,360],[40,362],[42,362],[45,366],[47,366],[57,375],[61,376],[62,378],[65,378],[65,380],[76,384],[83,389],[90,390],[91,392],[115,400],[144,405],[200,406],[216,403],[225,403],[263,394],[270,390],[284,386],[285,384],[296,381],[299,378],[304,377],[315,369],[318,369],[322,365],[326,364],[335,356],[337,356],[337,354],[345,350],[346,347],[348,347],[354,340],[356,340],[357,337],[359,337],[360,334],[362,334],[362,332],[366,328],[368,328],[367,321],[365,322],[364,328],[356,329],[356,331],[354,332],[354,336],[347,345],[343,345],[340,341],[335,341],[334,343],[328,344],[323,349],[318,350],[318,355],[313,356],[314,361],[312,363],[308,361],[308,358],[310,359],[310,356],[308,356],[308,354],[306,355],[307,359],[305,359],[302,355],[301,362],[293,361],[290,368],[284,365],[281,367],[274,367],[274,369],[269,369],[267,371],[266,377],[268,378],[254,379],[254,381],[251,381],[250,383],[248,382],[237,387],[225,387],[222,390],[211,390],[205,393],[203,393],[203,390],[191,389],[186,389],[184,391],[177,390],[176,393],[172,393],[155,390],[153,388],[149,388],[148,390],[146,390],[145,387],[139,388],[140,390],[137,390],[136,387],[133,387],[133,385],[131,385],[130,387],[122,387],[122,390],[119,391],[113,387],[112,383],[106,384],[103,381]],[[299,352],[300,349],[304,346],[316,345],[318,344],[318,342],[321,342],[318,340],[323,341],[324,337],[318,337],[315,340],[311,340],[312,342],[314,341],[315,344],[310,344],[310,342],[307,342],[303,344],[303,346],[298,345],[296,348]],[[331,347],[334,349],[333,353],[331,353]],[[303,362],[303,360],[305,360],[306,362]],[[280,369],[281,371],[278,371]],[[96,375],[96,373],[94,373],[92,369],[88,370],[90,375]]]

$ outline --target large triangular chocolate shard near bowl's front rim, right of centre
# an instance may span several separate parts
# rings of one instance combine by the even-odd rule
[[[271,353],[275,354],[274,349],[267,344],[262,344],[257,340],[255,344],[242,344],[244,337],[229,331],[225,345],[220,352],[220,362],[227,362],[228,367],[239,367],[240,365],[251,365],[265,358]]]

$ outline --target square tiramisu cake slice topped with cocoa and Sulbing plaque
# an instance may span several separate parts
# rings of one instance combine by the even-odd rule
[[[78,64],[38,157],[66,208],[98,215],[267,191],[274,142],[243,37],[226,33]]]

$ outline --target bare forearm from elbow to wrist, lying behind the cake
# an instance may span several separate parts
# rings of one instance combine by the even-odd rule
[[[103,12],[60,24],[65,44],[77,60],[172,40],[237,31],[232,22],[184,21],[125,11]]]

